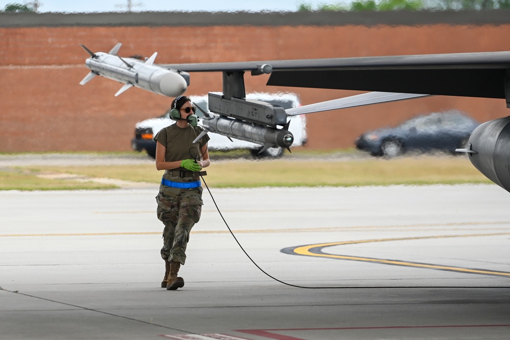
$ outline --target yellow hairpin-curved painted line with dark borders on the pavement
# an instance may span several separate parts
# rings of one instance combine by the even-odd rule
[[[337,259],[364,261],[364,262],[370,262],[370,263],[379,263],[379,264],[395,265],[395,266],[407,266],[407,267],[438,269],[438,270],[446,270],[446,271],[462,272],[462,273],[470,273],[470,274],[486,274],[486,275],[498,275],[498,276],[510,277],[510,273],[507,273],[507,272],[496,272],[496,271],[483,270],[483,269],[469,269],[469,268],[461,268],[461,267],[421,264],[421,263],[413,263],[413,262],[400,261],[400,260],[388,260],[388,259],[382,259],[382,258],[334,255],[334,254],[317,253],[317,252],[311,251],[311,249],[314,249],[314,248],[325,248],[325,247],[348,245],[348,244],[404,241],[404,240],[462,238],[462,237],[484,237],[484,236],[501,236],[501,235],[510,235],[510,232],[464,234],[464,235],[443,235],[443,236],[422,236],[422,237],[409,237],[409,238],[373,239],[373,240],[358,240],[358,241],[342,241],[342,242],[333,242],[333,243],[319,243],[319,244],[296,247],[295,249],[293,249],[293,252],[296,254],[299,254],[299,255],[304,255],[304,256],[337,258]]]

